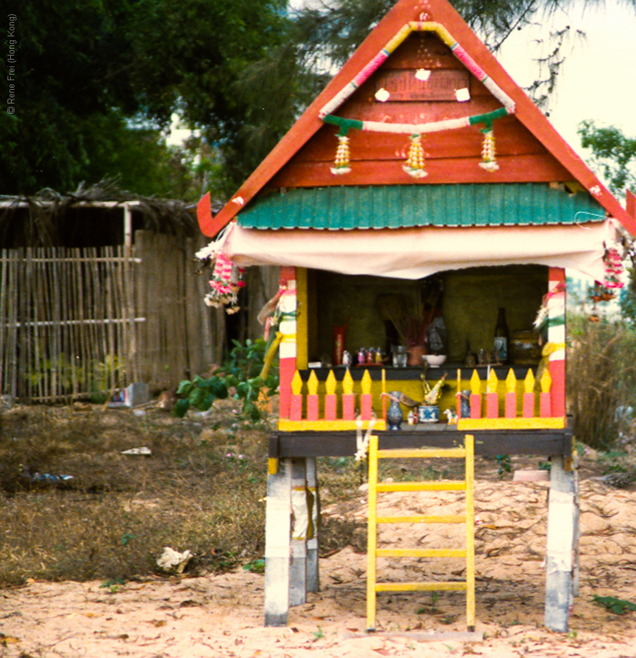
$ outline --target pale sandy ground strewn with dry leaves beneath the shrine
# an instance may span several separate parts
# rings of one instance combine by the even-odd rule
[[[636,612],[616,615],[592,602],[594,594],[636,602],[636,492],[596,480],[581,485],[581,589],[567,634],[542,626],[547,494],[547,483],[476,485],[479,641],[453,635],[466,631],[461,593],[381,594],[377,632],[364,633],[366,556],[346,548],[320,560],[320,593],[292,608],[285,628],[264,628],[264,577],[243,570],[153,578],[113,591],[100,582],[2,589],[0,657],[297,658],[309,650],[328,658],[636,657]],[[385,507],[448,511],[458,504],[453,496],[390,494]],[[362,492],[353,514],[366,515]],[[379,541],[448,546],[452,534],[440,526],[393,528]],[[461,561],[386,562],[379,563],[386,580],[461,578]]]

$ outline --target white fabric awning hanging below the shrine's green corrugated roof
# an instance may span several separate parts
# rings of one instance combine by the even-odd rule
[[[345,274],[419,279],[493,265],[567,267],[602,281],[603,254],[620,238],[615,222],[569,226],[421,227],[348,231],[256,230],[231,224],[212,243],[236,265],[288,265]],[[205,251],[205,250],[203,250]]]

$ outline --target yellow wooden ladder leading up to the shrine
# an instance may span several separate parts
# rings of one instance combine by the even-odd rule
[[[378,483],[378,459],[466,459],[464,480]],[[466,491],[466,513],[448,515],[382,516],[377,515],[378,493],[385,491]],[[377,548],[377,524],[381,523],[466,523],[466,548]],[[466,557],[466,581],[420,583],[378,583],[379,557]],[[367,551],[367,630],[375,630],[377,592],[441,592],[466,590],[466,625],[475,624],[474,560],[474,439],[466,435],[463,448],[418,448],[378,450],[378,437],[369,441],[369,520]]]

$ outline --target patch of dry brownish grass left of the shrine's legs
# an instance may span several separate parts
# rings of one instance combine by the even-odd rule
[[[157,572],[164,546],[189,549],[190,572],[261,559],[266,433],[214,424],[154,409],[139,417],[101,407],[5,413],[0,584],[116,583]],[[140,446],[151,455],[121,454]],[[73,479],[41,482],[36,472]]]

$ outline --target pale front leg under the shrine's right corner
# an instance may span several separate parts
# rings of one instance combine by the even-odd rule
[[[563,467],[563,456],[552,456],[546,541],[545,624],[566,633],[572,605],[572,552],[574,550],[574,472]]]

